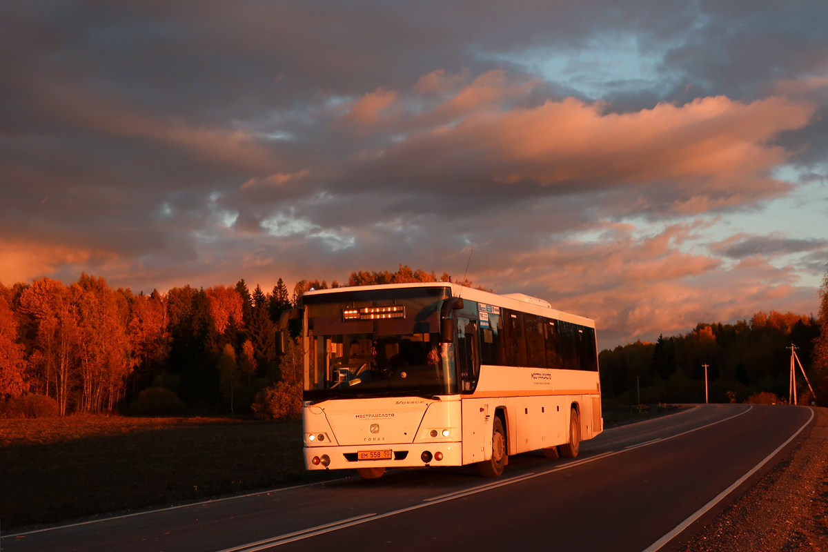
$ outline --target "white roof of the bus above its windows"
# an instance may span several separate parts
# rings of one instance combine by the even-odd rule
[[[328,290],[312,290],[306,291],[304,295],[327,295],[354,290],[394,290],[417,287],[447,287],[451,290],[452,297],[463,297],[468,300],[477,301],[486,305],[494,305],[506,309],[520,310],[529,314],[538,314],[546,316],[547,318],[564,320],[572,324],[580,324],[588,328],[595,328],[595,320],[579,316],[577,314],[566,313],[562,310],[553,309],[551,305],[542,299],[524,295],[522,293],[511,293],[508,295],[498,295],[484,290],[475,290],[471,287],[460,286],[452,282],[445,281],[425,281],[412,282],[410,284],[382,284],[379,286],[348,286],[335,287]]]

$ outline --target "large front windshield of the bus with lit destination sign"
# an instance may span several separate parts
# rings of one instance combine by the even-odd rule
[[[306,401],[457,392],[454,349],[440,343],[445,287],[309,295]]]

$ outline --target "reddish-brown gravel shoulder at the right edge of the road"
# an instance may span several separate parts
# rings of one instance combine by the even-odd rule
[[[663,550],[828,552],[828,410],[758,483],[696,535]]]

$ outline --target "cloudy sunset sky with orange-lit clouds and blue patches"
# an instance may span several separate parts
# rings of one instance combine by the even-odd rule
[[[0,5],[0,282],[399,263],[599,346],[817,310],[828,2]]]

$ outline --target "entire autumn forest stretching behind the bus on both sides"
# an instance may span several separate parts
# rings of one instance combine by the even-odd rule
[[[356,271],[330,287],[437,280],[434,271],[401,264],[394,272]],[[279,358],[274,332],[280,314],[301,305],[302,293],[328,287],[302,280],[288,290],[280,278],[270,291],[250,290],[242,279],[235,286],[136,295],[85,274],[68,286],[50,278],[0,284],[0,416],[296,415],[301,349],[291,343]],[[818,318],[758,312],[735,324],[700,323],[656,343],[604,349],[604,401],[704,401],[705,364],[710,402],[742,402],[762,392],[787,401],[793,345],[814,388],[811,394],[800,373],[800,401],[826,404],[828,274],[820,295]]]

